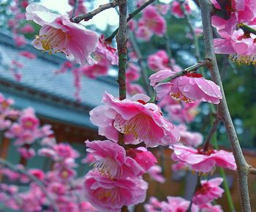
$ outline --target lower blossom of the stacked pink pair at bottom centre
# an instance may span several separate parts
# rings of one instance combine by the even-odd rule
[[[87,200],[100,211],[121,211],[124,205],[136,205],[146,198],[148,183],[142,178],[110,179],[89,171],[84,181]]]

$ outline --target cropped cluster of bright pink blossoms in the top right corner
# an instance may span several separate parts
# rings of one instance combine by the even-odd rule
[[[221,37],[214,39],[215,53],[230,54],[230,58],[238,64],[255,64],[256,35],[246,29],[239,29],[243,24],[256,29],[255,1],[230,0],[225,8],[218,1],[211,2],[221,14],[212,16],[212,25]]]

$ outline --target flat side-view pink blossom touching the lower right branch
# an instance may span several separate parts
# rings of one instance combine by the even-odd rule
[[[184,145],[172,145],[172,159],[174,161],[185,162],[192,170],[200,173],[213,172],[215,166],[236,170],[236,162],[231,152],[224,150],[197,150]]]

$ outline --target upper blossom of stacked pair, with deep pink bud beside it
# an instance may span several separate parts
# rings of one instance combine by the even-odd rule
[[[94,169],[110,178],[127,178],[142,175],[157,162],[157,159],[143,149],[127,151],[110,140],[86,141],[87,151],[94,156]]]

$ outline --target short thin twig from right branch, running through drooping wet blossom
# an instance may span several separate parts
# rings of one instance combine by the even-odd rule
[[[182,70],[181,72],[176,72],[176,74],[172,75],[171,77],[167,77],[165,80],[160,81],[159,83],[167,83],[170,82],[170,80],[173,80],[177,77],[181,77],[183,75],[186,75],[189,72],[195,72],[200,67],[205,67],[208,64],[208,59],[204,59],[203,61],[197,62],[197,64],[192,65],[191,67],[187,67],[187,69]],[[154,91],[154,93],[151,96],[151,99],[149,99],[149,102],[154,103],[157,98],[157,92]]]

